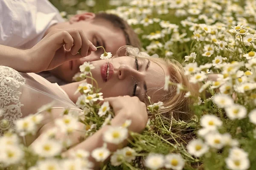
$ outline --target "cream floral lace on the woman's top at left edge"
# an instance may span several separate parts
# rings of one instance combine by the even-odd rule
[[[0,66],[0,108],[3,114],[0,117],[0,134],[10,127],[14,128],[15,121],[22,116],[20,95],[24,79],[16,70]]]

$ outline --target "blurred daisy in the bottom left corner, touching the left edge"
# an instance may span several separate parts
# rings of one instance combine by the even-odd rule
[[[17,145],[5,145],[0,148],[0,162],[4,166],[16,164],[24,156],[23,151]]]

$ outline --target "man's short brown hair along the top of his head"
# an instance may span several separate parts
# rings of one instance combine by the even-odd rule
[[[121,29],[123,34],[125,35],[126,45],[131,45],[137,48],[141,48],[140,39],[138,35],[134,32],[131,26],[123,20],[122,18],[118,17],[115,14],[108,14],[105,12],[96,14],[95,18],[96,21],[98,19],[104,19],[113,24],[115,28]]]

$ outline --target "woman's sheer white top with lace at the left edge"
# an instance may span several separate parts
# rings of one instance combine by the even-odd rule
[[[14,128],[16,120],[37,113],[38,108],[49,102],[54,102],[54,107],[76,108],[58,85],[37,74],[19,73],[12,68],[0,66],[0,108],[3,109],[0,134],[10,127]]]

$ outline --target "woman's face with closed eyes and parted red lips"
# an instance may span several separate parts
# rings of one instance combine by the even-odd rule
[[[158,102],[160,96],[165,94],[163,86],[165,73],[168,73],[165,65],[133,57],[116,57],[91,63],[95,66],[91,70],[93,78],[104,97],[129,95],[144,101],[145,97],[150,96],[152,102]],[[91,79],[87,79],[87,82],[92,83]]]

